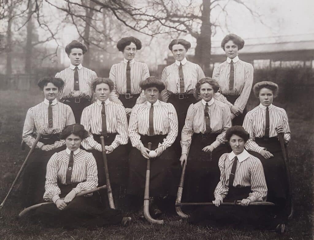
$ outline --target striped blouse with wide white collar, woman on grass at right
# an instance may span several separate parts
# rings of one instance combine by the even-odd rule
[[[229,190],[229,177],[231,167],[236,155],[225,153],[219,158],[220,181],[214,191],[215,199],[223,199],[227,196]],[[266,200],[267,185],[261,161],[249,154],[246,150],[237,155],[238,162],[236,165],[236,173],[233,181],[233,186],[244,188],[251,186],[252,193],[247,197],[252,202],[261,202]],[[242,199],[238,199],[242,200]]]

